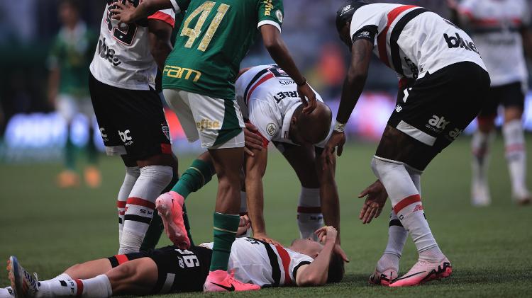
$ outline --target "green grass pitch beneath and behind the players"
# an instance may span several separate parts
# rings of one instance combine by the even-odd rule
[[[528,144],[532,139],[528,138]],[[532,148],[529,145],[528,148]],[[509,196],[509,177],[500,138],[492,150],[491,207],[470,206],[469,139],[460,138],[440,154],[423,174],[423,205],[440,247],[453,263],[454,274],[422,287],[372,287],[367,277],[387,240],[387,214],[369,225],[357,219],[358,192],[375,180],[370,159],[375,144],[352,144],[338,162],[343,249],[351,263],[343,282],[321,288],[280,288],[245,297],[530,297],[532,291],[532,207],[517,207]],[[532,149],[528,149],[530,153]],[[530,154],[528,154],[530,157]],[[184,169],[194,156],[179,156]],[[528,162],[532,168],[532,162]],[[116,193],[123,179],[117,158],[101,159],[104,184],[97,190],[59,190],[53,181],[59,164],[0,165],[0,259],[18,256],[41,279],[84,260],[111,256],[118,249]],[[532,185],[532,179],[529,185]],[[216,180],[187,200],[196,242],[211,241]],[[265,177],[265,217],[270,236],[289,243],[298,236],[299,183],[277,151],[271,151]],[[389,203],[385,210],[389,210]],[[169,243],[166,239],[161,245]],[[416,261],[409,239],[401,273]],[[0,275],[0,286],[9,284]],[[199,293],[201,294],[201,293]],[[196,294],[184,294],[189,297]],[[177,295],[174,295],[177,296]],[[168,295],[165,297],[172,297]]]

